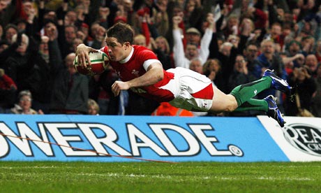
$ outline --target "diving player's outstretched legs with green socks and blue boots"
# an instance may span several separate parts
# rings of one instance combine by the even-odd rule
[[[291,87],[285,80],[278,78],[273,71],[267,70],[260,80],[239,85],[232,90],[231,94],[224,94],[217,88],[214,88],[213,104],[210,110],[213,112],[262,110],[267,113],[269,117],[273,117],[278,124],[283,127],[285,121],[283,120],[280,110],[278,110],[276,98],[274,98],[274,96],[270,95],[262,100],[252,99],[257,93],[268,88],[274,88],[287,93],[290,93],[291,90]],[[237,103],[237,106],[235,106],[235,102]]]

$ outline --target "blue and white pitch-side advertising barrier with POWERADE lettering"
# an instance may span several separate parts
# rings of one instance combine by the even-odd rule
[[[0,115],[0,161],[321,161],[321,118]]]

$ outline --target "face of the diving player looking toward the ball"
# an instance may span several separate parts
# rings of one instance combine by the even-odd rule
[[[110,60],[118,62],[122,59],[125,59],[129,55],[130,44],[128,42],[121,44],[117,41],[117,38],[114,37],[107,37],[105,41],[108,46]]]

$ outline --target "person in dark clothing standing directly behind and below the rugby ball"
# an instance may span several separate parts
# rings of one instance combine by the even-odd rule
[[[52,114],[87,114],[88,112],[88,78],[77,73],[73,66],[74,59],[74,52],[68,54],[64,61],[66,68],[61,69],[54,79],[50,105]]]

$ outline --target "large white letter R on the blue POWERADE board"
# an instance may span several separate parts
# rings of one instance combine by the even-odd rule
[[[78,124],[78,126],[82,132],[84,132],[84,135],[88,138],[88,141],[94,146],[97,152],[108,154],[102,145],[103,143],[117,152],[119,155],[131,156],[130,152],[124,150],[119,145],[114,143],[114,141],[117,141],[118,136],[112,128],[107,127],[105,124]],[[106,134],[106,137],[97,138],[92,129],[100,129]]]

